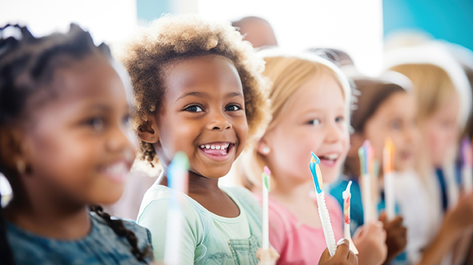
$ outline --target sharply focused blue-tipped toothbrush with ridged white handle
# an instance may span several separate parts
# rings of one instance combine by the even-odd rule
[[[317,191],[317,204],[319,207],[320,220],[322,221],[322,229],[324,230],[326,246],[329,248],[331,257],[333,257],[333,255],[335,255],[337,246],[335,243],[335,236],[333,235],[332,225],[330,223],[329,210],[326,209],[324,191],[322,191],[324,182],[322,180],[322,172],[320,172],[319,164],[320,159],[314,153],[312,153],[312,159],[310,160],[309,168],[314,179],[315,191]]]

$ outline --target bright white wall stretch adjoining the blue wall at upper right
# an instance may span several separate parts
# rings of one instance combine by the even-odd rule
[[[283,49],[338,48],[365,74],[381,69],[381,0],[198,0],[198,6],[214,19],[267,19]]]

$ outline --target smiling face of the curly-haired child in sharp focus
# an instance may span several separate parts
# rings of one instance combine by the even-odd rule
[[[167,68],[165,88],[154,145],[160,161],[167,166],[182,151],[191,172],[211,179],[225,176],[248,135],[237,69],[223,56],[187,58]]]

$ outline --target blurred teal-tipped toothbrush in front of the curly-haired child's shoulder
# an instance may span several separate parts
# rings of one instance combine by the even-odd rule
[[[188,167],[189,161],[183,152],[178,152],[167,170],[167,184],[170,191],[170,201],[167,208],[166,244],[164,251],[164,264],[178,265],[181,255],[181,238],[183,213],[181,208],[181,193],[188,192]]]

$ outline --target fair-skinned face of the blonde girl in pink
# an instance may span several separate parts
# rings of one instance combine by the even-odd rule
[[[314,152],[320,158],[324,183],[333,182],[349,144],[342,88],[331,75],[322,74],[303,84],[289,100],[290,108],[262,139],[271,150],[266,160],[276,181],[279,177],[310,181],[308,164]]]

